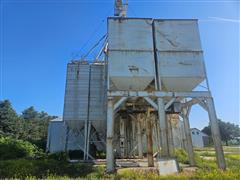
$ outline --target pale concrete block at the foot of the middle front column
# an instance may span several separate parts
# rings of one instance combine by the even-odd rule
[[[169,175],[179,172],[178,163],[175,159],[159,159],[157,161],[159,175]]]

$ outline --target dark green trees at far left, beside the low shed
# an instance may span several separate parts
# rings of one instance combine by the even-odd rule
[[[45,149],[48,123],[56,117],[33,106],[17,114],[9,100],[0,101],[0,136],[26,140]]]

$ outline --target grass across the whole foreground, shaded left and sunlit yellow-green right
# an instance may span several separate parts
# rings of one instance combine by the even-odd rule
[[[202,151],[200,149],[195,151],[195,161],[198,167],[196,172],[182,171],[170,176],[159,176],[155,171],[132,169],[121,170],[118,173],[108,175],[105,173],[104,165],[68,163],[64,155],[55,155],[57,158],[52,155],[47,159],[38,160],[2,160],[0,161],[0,179],[240,179],[240,153],[236,153],[235,149],[232,153],[225,154],[226,171],[219,170],[214,160],[203,159],[202,156],[212,157],[212,152],[206,152],[205,148]],[[188,162],[185,151],[176,150],[175,154],[180,162]],[[62,157],[62,159],[57,160],[58,157]]]

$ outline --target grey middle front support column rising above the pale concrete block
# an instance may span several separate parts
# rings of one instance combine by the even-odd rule
[[[159,118],[161,149],[162,149],[161,156],[169,157],[166,114],[165,114],[164,101],[162,98],[158,98],[158,118]]]

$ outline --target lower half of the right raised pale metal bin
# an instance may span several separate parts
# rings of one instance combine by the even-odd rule
[[[202,52],[158,52],[164,90],[189,91],[205,78]]]

